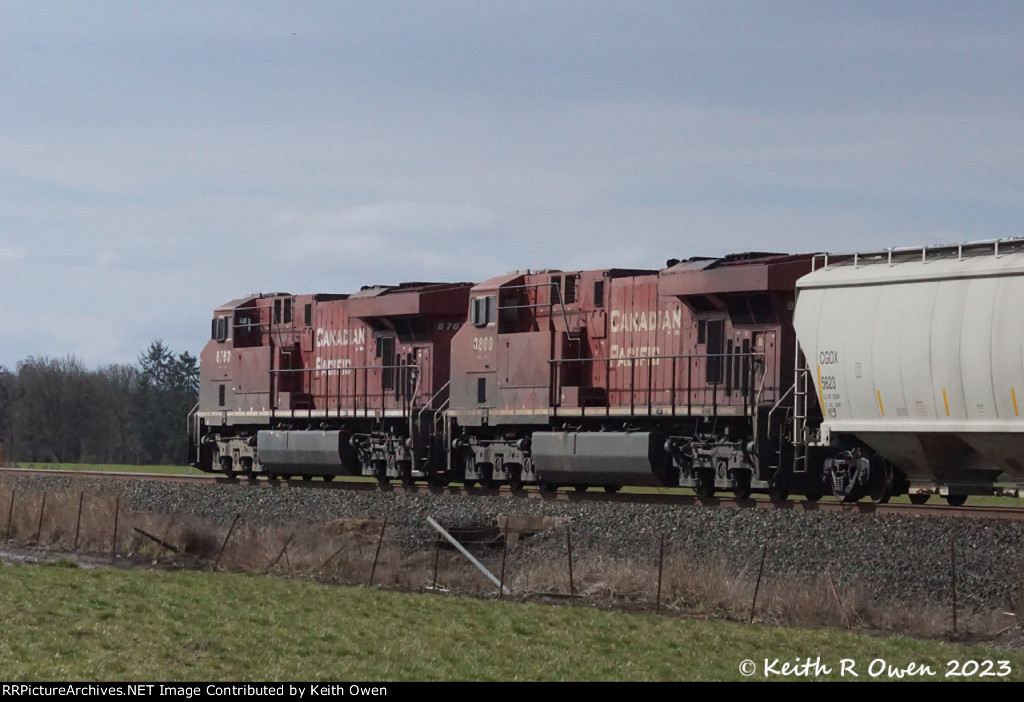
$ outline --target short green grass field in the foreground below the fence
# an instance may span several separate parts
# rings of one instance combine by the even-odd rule
[[[941,679],[969,658],[1024,679],[1021,654],[937,642],[252,575],[2,567],[0,593],[4,681],[735,681],[819,656],[827,679],[844,658],[858,679],[874,659]]]

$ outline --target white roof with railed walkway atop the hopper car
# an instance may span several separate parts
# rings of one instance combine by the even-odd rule
[[[798,289],[1024,275],[1024,238],[819,256]]]

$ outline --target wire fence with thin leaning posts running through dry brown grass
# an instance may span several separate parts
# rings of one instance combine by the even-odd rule
[[[665,535],[653,537],[648,550],[653,556],[609,557],[580,538],[585,534],[574,533],[571,523],[523,538],[508,517],[493,526],[440,525],[447,536],[426,524],[411,529],[374,518],[266,526],[239,513],[215,524],[185,514],[136,513],[116,494],[19,492],[10,486],[0,487],[0,510],[5,560],[16,558],[17,550],[44,549],[97,565],[127,560],[143,567],[260,572],[345,585],[954,639],[1018,626],[1016,612],[964,611],[958,583],[970,578],[957,565],[953,537],[936,544],[949,563],[946,590],[932,602],[897,606],[845,582],[835,564],[799,580],[771,573],[768,541],[736,572],[696,561]]]

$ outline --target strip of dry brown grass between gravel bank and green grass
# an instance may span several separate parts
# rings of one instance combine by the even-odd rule
[[[115,552],[133,557],[140,564],[178,567],[212,567],[221,570],[267,572],[340,584],[368,584],[403,589],[437,589],[476,597],[497,596],[497,587],[450,547],[413,549],[397,538],[397,530],[385,528],[375,519],[343,519],[325,524],[256,527],[242,519],[230,533],[228,527],[195,517],[131,513],[116,495],[79,490],[47,493],[14,493],[11,508],[9,484],[0,481],[0,539],[17,545],[41,545],[70,552],[112,553],[115,513]],[[79,503],[81,499],[81,519]],[[147,532],[174,544],[174,554],[140,533]],[[37,539],[38,534],[38,539]],[[38,540],[38,543],[37,543]],[[221,547],[223,552],[221,553]],[[379,546],[379,550],[378,550]],[[518,550],[526,549],[528,541]],[[500,549],[480,549],[479,557],[500,576]],[[568,563],[518,561],[506,568],[505,582],[514,597],[558,598],[569,596]],[[667,553],[662,570],[658,599],[657,562],[609,559],[580,554],[573,561],[575,597],[579,602],[602,607],[655,610],[668,614],[726,618],[745,621],[757,579],[757,564],[734,573],[722,565],[697,562],[684,554]],[[842,609],[841,604],[842,603]],[[1010,612],[962,612],[958,630],[970,634],[992,634],[1016,626],[1015,615],[1024,600]],[[773,576],[761,582],[756,620],[762,623],[807,627],[851,627],[941,637],[951,630],[948,607],[928,603],[901,606],[880,604],[855,587],[833,589],[826,574],[796,578]]]

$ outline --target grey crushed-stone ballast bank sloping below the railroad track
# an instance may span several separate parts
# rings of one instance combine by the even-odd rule
[[[227,525],[238,514],[250,526],[319,524],[339,518],[386,519],[391,538],[411,551],[430,547],[433,517],[450,529],[493,528],[500,514],[545,515],[567,526],[521,540],[509,552],[514,568],[565,561],[565,529],[574,558],[657,559],[660,538],[670,554],[750,573],[767,544],[765,576],[818,577],[830,569],[842,586],[857,586],[889,602],[945,605],[951,600],[950,544],[955,540],[957,599],[978,609],[1017,601],[1024,521],[787,510],[735,510],[600,501],[549,501],[393,491],[352,491],[218,485],[79,476],[3,479],[3,494],[47,491],[120,494],[137,513],[190,515]]]

